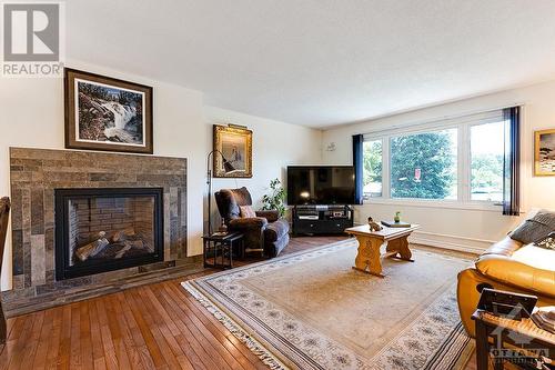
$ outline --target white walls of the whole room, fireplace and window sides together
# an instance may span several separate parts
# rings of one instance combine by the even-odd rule
[[[554,178],[533,177],[533,131],[555,127],[555,82],[467,99],[324,132],[230,110],[206,107],[202,93],[174,84],[130,76],[102,67],[70,61],[69,67],[135,81],[154,88],[154,154],[189,159],[189,254],[202,250],[200,237],[205,209],[206,154],[212,148],[213,123],[236,123],[253,130],[253,178],[214,179],[213,190],[245,186],[256,207],[271,179],[284,180],[287,164],[349,164],[351,136],[371,128],[414,124],[442,117],[525,104],[523,130],[524,208],[555,209]],[[9,194],[9,147],[63,149],[63,86],[61,79],[2,79],[0,81],[0,194]],[[336,150],[323,151],[330,142]],[[215,206],[214,206],[215,209]],[[484,210],[423,208],[410,204],[357,207],[357,221],[366,216],[391,218],[401,210],[406,220],[422,224],[421,241],[462,248],[484,248],[501,239],[518,218]],[[214,210],[215,212],[215,210]],[[11,243],[8,240],[1,274],[2,290],[11,288]]]

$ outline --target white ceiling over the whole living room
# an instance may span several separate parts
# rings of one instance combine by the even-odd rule
[[[70,0],[68,57],[323,128],[555,78],[553,0]]]

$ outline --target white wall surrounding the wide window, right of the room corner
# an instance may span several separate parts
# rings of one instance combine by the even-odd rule
[[[533,176],[534,131],[555,128],[555,81],[493,93],[484,97],[446,103],[413,112],[395,114],[367,122],[330,129],[323,133],[323,148],[335,142],[335,151],[323,151],[323,162],[331,164],[352,163],[352,139],[355,133],[410,126],[456,117],[467,113],[524,104],[524,128],[522,132],[522,171],[524,209],[555,209],[555,177]],[[356,220],[364,222],[367,216],[377,219],[392,218],[400,210],[407,221],[420,223],[421,232],[414,241],[443,244],[454,248],[482,249],[503,238],[519,218],[502,216],[497,211],[446,209],[404,204],[370,203],[356,207]]]

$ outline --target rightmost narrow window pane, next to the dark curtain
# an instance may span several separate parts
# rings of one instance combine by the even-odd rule
[[[503,200],[504,123],[471,128],[471,200]]]

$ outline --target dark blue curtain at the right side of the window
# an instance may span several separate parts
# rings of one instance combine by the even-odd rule
[[[503,166],[503,214],[521,214],[521,108],[503,110],[505,158]]]

